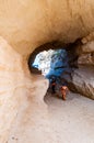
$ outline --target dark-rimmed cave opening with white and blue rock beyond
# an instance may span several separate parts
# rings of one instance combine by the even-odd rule
[[[57,89],[63,82],[67,82],[70,88],[68,81],[71,78],[71,73],[78,67],[78,55],[74,54],[74,46],[78,42],[73,44],[62,44],[61,42],[46,43],[37,47],[30,55],[28,68],[31,73],[35,75],[44,75],[49,80],[47,92],[51,92],[51,78],[57,80]]]

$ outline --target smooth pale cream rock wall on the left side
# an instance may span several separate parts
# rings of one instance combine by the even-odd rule
[[[0,37],[0,143],[55,143],[44,95],[48,80]]]

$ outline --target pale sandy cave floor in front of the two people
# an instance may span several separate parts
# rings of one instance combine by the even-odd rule
[[[45,101],[58,143],[94,143],[94,100],[70,92],[66,101],[51,95]]]

